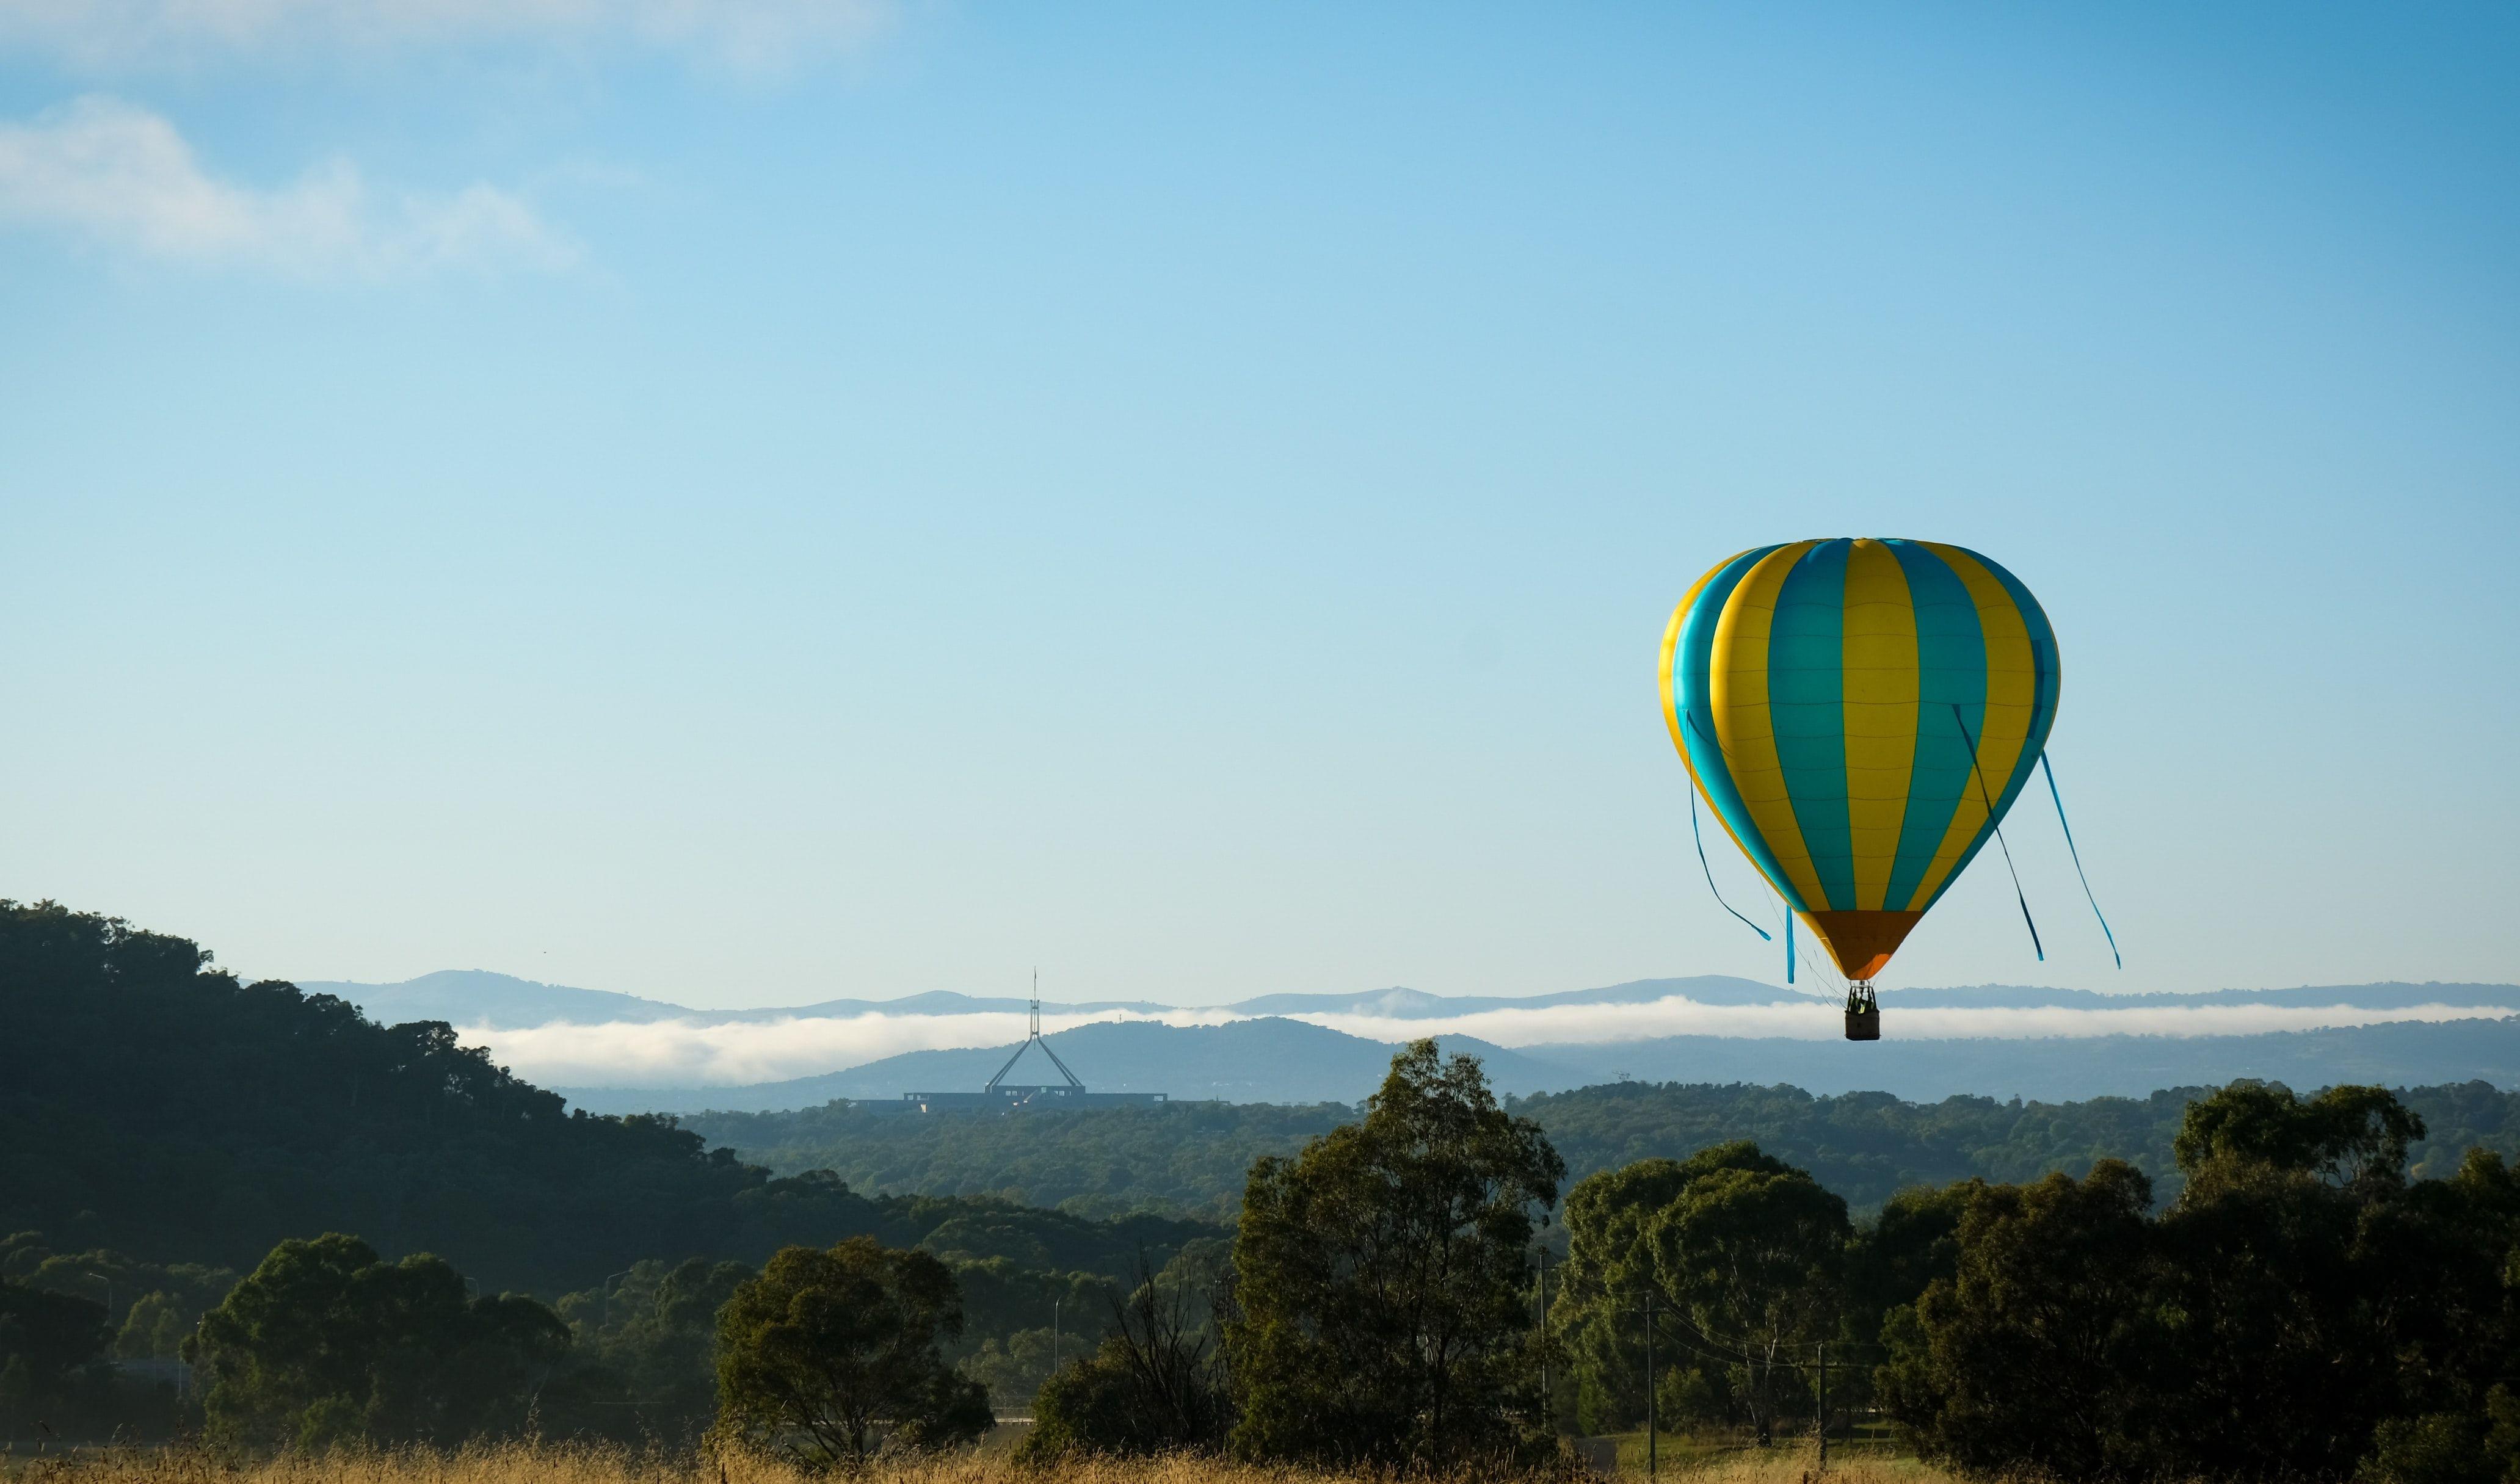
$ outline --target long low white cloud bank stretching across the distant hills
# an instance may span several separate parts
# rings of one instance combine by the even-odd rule
[[[2069,1008],[1893,1008],[1898,1036],[1918,1041],[2031,1041],[2089,1036],[2260,1036],[2273,1030],[2323,1030],[2336,1025],[2386,1025],[2404,1020],[2490,1020],[2495,1005],[2137,1005],[2124,1010]],[[1164,1025],[1225,1025],[1247,1020],[1235,1010],[1099,1010],[1043,1015],[1046,1033],[1089,1023],[1154,1020]],[[1474,1036],[1497,1046],[1583,1043],[1610,1046],[1661,1036],[1736,1036],[1832,1041],[1840,1036],[1835,1003],[1704,1005],[1663,998],[1643,1005],[1535,1005],[1467,1015],[1394,1018],[1308,1013],[1290,1015],[1368,1041],[1419,1036]],[[464,1030],[469,1046],[519,1076],[547,1086],[743,1086],[844,1071],[907,1051],[958,1051],[1023,1041],[1021,1013],[968,1015],[827,1015],[786,1020],[607,1020],[602,1025],[534,1025]]]

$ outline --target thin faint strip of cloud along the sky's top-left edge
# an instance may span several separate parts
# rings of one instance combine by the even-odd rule
[[[638,45],[743,73],[852,50],[890,0],[0,0],[0,45],[81,68],[413,45]]]

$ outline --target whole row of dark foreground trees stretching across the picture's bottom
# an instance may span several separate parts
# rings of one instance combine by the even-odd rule
[[[1230,1245],[1048,1295],[1101,1313],[1061,1335],[1026,1451],[1449,1471],[1540,1464],[1570,1429],[1772,1444],[1880,1416],[1983,1479],[2500,1484],[2520,1476],[2520,1169],[2472,1149],[2409,1177],[2429,1136],[2384,1088],[2243,1081],[2185,1106],[2170,1202],[2099,1159],[1855,1219],[1754,1141],[1567,1189],[1537,1121],[1416,1043],[1361,1119],[1250,1167]],[[973,1320],[1046,1298],[993,1262],[859,1235],[544,1305],[330,1235],[277,1245],[179,1348],[204,1436],[239,1449],[706,1429],[854,1464],[990,1426],[1005,1393]],[[116,1386],[106,1343],[101,1303],[0,1285],[0,1406]]]

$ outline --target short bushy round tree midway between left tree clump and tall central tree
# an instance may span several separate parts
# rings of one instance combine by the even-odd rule
[[[811,1466],[978,1439],[995,1418],[945,1361],[960,1333],[953,1270],[927,1252],[781,1247],[718,1310],[721,1424]]]

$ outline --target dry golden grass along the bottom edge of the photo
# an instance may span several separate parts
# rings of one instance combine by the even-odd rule
[[[1809,1444],[1666,1459],[1673,1484],[1819,1484]],[[192,1449],[106,1449],[0,1459],[10,1484],[1441,1484],[1389,1474],[1230,1464],[1220,1459],[1084,1459],[1026,1469],[1003,1449],[882,1459],[859,1476],[806,1474],[771,1459],[693,1459],[622,1449],[499,1444],[431,1451],[340,1451],[232,1461]],[[1620,1469],[1643,1484],[1643,1469]],[[1913,1459],[1832,1456],[1827,1484],[1948,1484]]]

